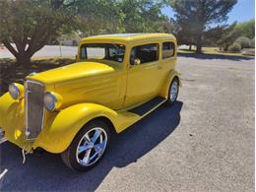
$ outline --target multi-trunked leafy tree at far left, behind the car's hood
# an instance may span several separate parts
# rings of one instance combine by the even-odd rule
[[[0,7],[0,40],[20,65],[30,66],[36,51],[76,27],[75,0],[1,0]]]

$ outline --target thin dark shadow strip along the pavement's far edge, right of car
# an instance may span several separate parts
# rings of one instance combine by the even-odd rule
[[[235,55],[221,55],[221,54],[196,54],[196,53],[178,53],[179,57],[191,57],[196,59],[228,59],[232,61],[252,60],[252,56],[235,56]]]

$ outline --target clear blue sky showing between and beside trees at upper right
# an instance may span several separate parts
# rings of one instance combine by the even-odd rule
[[[163,13],[168,17],[173,17],[174,13],[169,7],[162,9]],[[231,12],[228,14],[227,23],[234,21],[244,22],[255,18],[255,1],[254,0],[238,0]]]

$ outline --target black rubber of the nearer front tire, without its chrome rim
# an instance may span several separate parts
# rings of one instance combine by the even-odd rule
[[[93,132],[94,129],[96,129],[96,128],[101,128],[101,129],[104,130],[103,134],[106,133],[106,146],[104,148],[104,151],[100,155],[99,159],[96,160],[96,162],[94,162],[94,163],[92,163],[90,165],[81,164],[79,162],[79,160],[77,159],[77,149],[78,149],[79,145],[81,144],[81,142],[84,141],[84,140],[82,140],[84,138],[84,136],[87,133]],[[94,120],[94,121],[88,123],[87,125],[85,125],[79,131],[79,133],[76,135],[76,137],[74,138],[74,140],[72,141],[72,143],[70,144],[68,149],[61,154],[61,159],[63,160],[63,162],[68,167],[70,167],[73,170],[76,170],[76,171],[87,171],[87,170],[90,170],[91,168],[95,167],[96,164],[100,160],[102,160],[102,158],[103,158],[103,156],[104,156],[104,154],[105,154],[105,152],[106,152],[106,150],[107,150],[107,148],[109,146],[109,141],[110,141],[110,134],[109,134],[109,128],[107,127],[107,125],[103,121]],[[94,150],[94,148],[93,148],[93,150]],[[85,153],[87,153],[87,151],[85,151]],[[95,151],[95,153],[96,153],[96,151]]]

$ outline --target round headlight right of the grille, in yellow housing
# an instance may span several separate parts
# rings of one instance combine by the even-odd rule
[[[44,107],[47,110],[53,111],[61,106],[62,97],[58,94],[47,92],[43,98]]]

